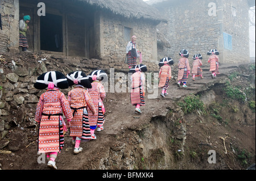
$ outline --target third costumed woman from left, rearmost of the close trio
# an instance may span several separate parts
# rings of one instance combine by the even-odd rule
[[[101,84],[101,81],[108,81],[108,75],[103,70],[92,71],[88,75],[90,81],[92,82],[92,88],[88,89],[90,96],[93,99],[93,104],[96,108],[96,114],[92,115],[91,111],[89,113],[89,124],[90,124],[90,133],[92,134],[92,139],[96,140],[96,135],[94,134],[95,129],[100,132],[104,129],[103,125],[105,123],[105,107],[103,104],[104,99],[106,98],[106,92],[104,86]]]

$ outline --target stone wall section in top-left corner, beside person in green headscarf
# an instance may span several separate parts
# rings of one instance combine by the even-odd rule
[[[2,0],[0,13],[2,28],[0,30],[0,52],[18,52],[19,47],[19,1]]]

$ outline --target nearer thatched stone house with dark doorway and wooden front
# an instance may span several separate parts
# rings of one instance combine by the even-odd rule
[[[100,68],[122,69],[126,45],[137,35],[144,64],[158,65],[156,26],[162,19],[142,0],[3,0],[0,13],[0,52],[19,52],[19,20],[30,15],[28,49],[34,52],[98,58]]]

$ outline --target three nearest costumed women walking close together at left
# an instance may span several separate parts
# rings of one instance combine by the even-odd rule
[[[67,76],[59,71],[48,71],[38,77],[34,87],[47,89],[39,99],[35,120],[39,125],[38,152],[47,155],[49,167],[57,169],[55,159],[64,146],[64,134],[70,128],[69,136],[75,145],[74,154],[82,151],[81,140],[96,140],[94,131],[104,129],[106,97],[101,84],[107,74],[95,70],[88,76],[83,71],[73,71]],[[73,89],[68,99],[60,89]],[[65,124],[64,117],[67,119]]]

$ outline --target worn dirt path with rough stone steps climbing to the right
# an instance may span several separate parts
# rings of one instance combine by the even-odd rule
[[[130,104],[129,93],[108,93],[109,98],[113,98],[113,104],[106,104],[106,123],[104,127],[108,129],[107,134],[110,136],[115,136],[118,133],[122,132],[123,129],[134,129],[133,127],[138,127],[138,125],[143,125],[150,121],[151,117],[154,116],[166,116],[168,110],[166,107],[171,105],[172,102],[176,102],[180,98],[187,96],[188,94],[197,94],[198,92],[205,91],[210,89],[209,87],[214,86],[216,83],[225,83],[228,80],[228,76],[233,71],[236,71],[238,65],[221,65],[220,72],[221,74],[217,75],[217,78],[212,79],[210,76],[209,69],[203,69],[204,78],[196,77],[196,81],[192,81],[192,76],[189,75],[187,86],[188,87],[177,87],[177,82],[172,80],[170,82],[170,87],[167,90],[168,96],[166,98],[162,98],[160,96],[161,89],[155,89],[154,91],[158,91],[157,98],[148,99],[150,97],[147,92],[145,94],[145,103],[146,106],[141,107],[142,114],[139,115],[134,113],[134,106]],[[113,94],[113,95],[112,95]],[[121,98],[115,99],[115,97],[119,94]],[[123,108],[124,106],[125,108]],[[108,112],[108,107],[110,108],[110,112]],[[117,116],[116,112],[119,112],[122,109],[122,117]],[[125,110],[123,110],[125,109]],[[109,119],[109,116],[111,119]],[[119,127],[118,122],[122,121],[121,127]],[[133,124],[131,124],[131,121]],[[112,128],[115,129],[112,129]],[[98,133],[99,135],[106,134],[104,132]]]

